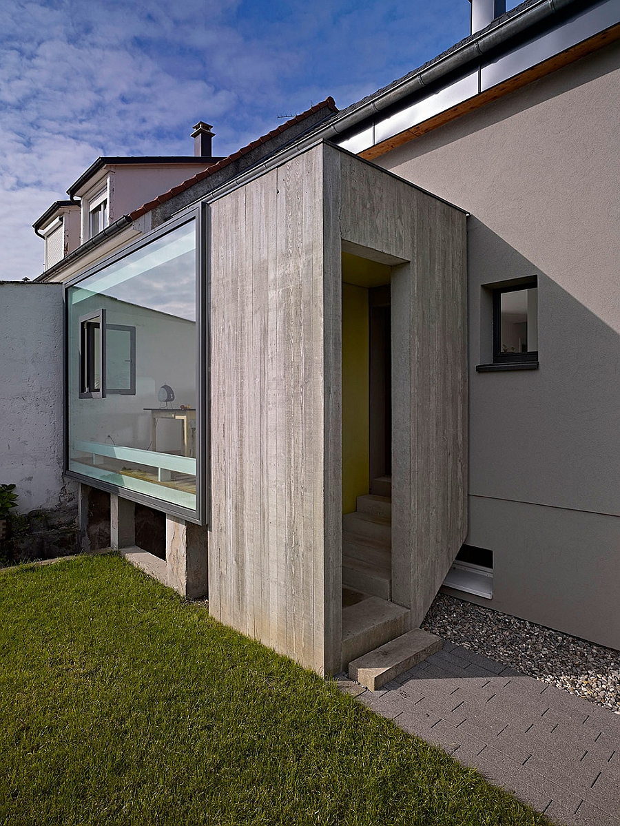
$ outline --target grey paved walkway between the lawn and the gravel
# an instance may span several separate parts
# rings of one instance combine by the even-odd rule
[[[343,691],[566,826],[620,824],[620,714],[466,648]]]

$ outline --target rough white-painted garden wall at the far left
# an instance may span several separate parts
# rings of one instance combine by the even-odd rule
[[[63,287],[0,282],[0,482],[18,510],[70,505],[63,470]]]

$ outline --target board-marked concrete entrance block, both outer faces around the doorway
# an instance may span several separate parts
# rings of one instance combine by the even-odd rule
[[[419,623],[466,533],[465,215],[326,144],[209,210],[210,612],[335,672],[343,245],[399,267],[393,579]]]

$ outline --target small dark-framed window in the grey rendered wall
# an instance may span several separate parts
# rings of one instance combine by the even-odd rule
[[[493,363],[538,361],[536,282],[493,291]]]

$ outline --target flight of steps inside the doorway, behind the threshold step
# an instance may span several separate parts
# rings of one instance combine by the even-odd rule
[[[357,496],[357,510],[343,516],[343,586],[383,600],[391,597],[391,478],[372,480]]]

